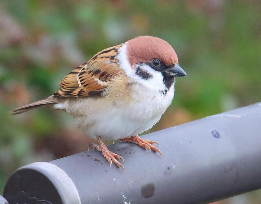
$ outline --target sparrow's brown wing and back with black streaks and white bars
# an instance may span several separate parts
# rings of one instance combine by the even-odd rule
[[[72,70],[60,82],[60,89],[54,93],[62,97],[101,96],[111,78],[121,72],[117,63],[120,45],[104,49],[88,62]]]

